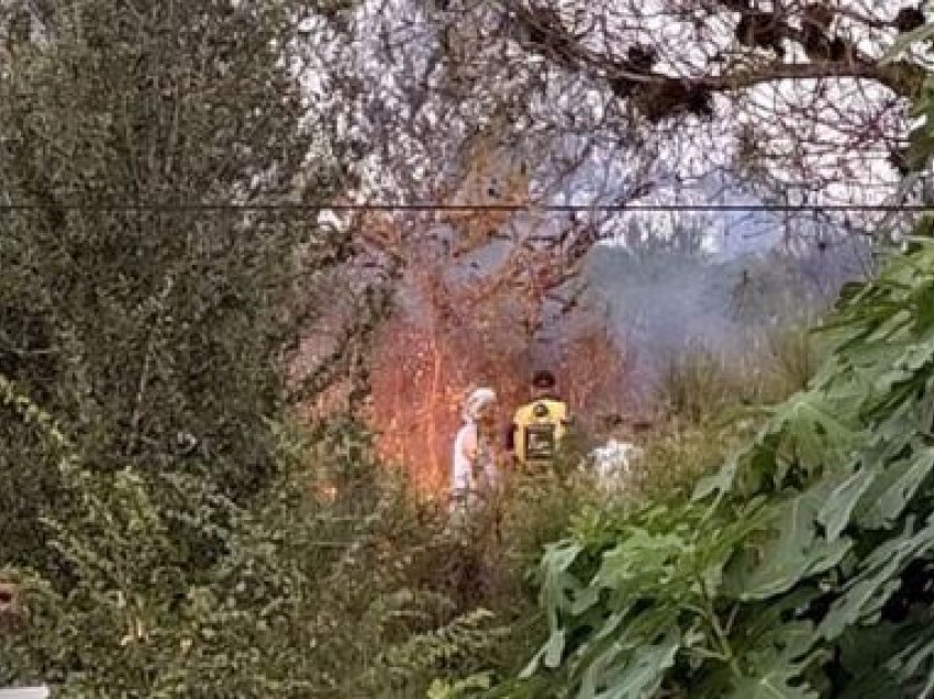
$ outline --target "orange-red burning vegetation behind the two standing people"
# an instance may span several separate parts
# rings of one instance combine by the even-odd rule
[[[400,312],[383,325],[371,368],[380,454],[405,468],[421,490],[447,488],[460,402],[479,385],[496,388],[503,430],[512,409],[527,400],[532,371],[546,362],[586,426],[623,411],[630,363],[600,323],[579,323],[559,347],[543,347],[523,331],[514,297],[470,303],[464,296],[469,289],[444,287],[432,274],[424,281],[434,287],[434,302],[419,317]]]

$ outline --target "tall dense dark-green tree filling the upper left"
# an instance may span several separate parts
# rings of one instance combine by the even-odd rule
[[[18,31],[0,49],[0,374],[97,470],[185,469],[256,492],[276,468],[283,362],[352,247],[312,214],[227,204],[313,203],[340,186],[336,116],[300,70],[300,25],[324,27],[333,8],[2,10]],[[36,515],[64,496],[8,417],[0,561],[34,562]]]

